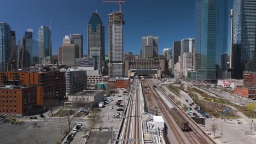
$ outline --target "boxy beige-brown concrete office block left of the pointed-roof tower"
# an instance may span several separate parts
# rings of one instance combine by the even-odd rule
[[[75,58],[79,56],[79,47],[76,44],[61,45],[61,64],[67,67],[75,67]]]

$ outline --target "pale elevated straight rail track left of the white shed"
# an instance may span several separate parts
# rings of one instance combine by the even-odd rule
[[[139,107],[139,83],[135,81],[134,86],[132,87],[130,95],[129,105],[127,105],[127,115],[126,122],[124,125],[124,137],[123,143],[141,143],[141,123],[140,118],[140,107]],[[135,141],[132,141],[135,140]]]

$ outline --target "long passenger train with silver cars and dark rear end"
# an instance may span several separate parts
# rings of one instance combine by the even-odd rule
[[[182,131],[190,131],[189,122],[181,115],[181,113],[171,104],[171,102],[162,94],[159,89],[154,85],[155,91],[159,94],[161,99],[165,101],[165,104],[168,106],[168,111],[171,113],[172,117],[182,129]]]

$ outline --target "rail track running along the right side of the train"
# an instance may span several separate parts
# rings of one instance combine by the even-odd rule
[[[150,81],[150,80],[149,80]],[[150,81],[151,85],[153,86],[153,82]],[[170,97],[168,97],[164,92],[162,92],[162,90],[159,87],[158,90],[165,95],[165,97],[173,104],[173,106],[179,110],[180,113],[183,113],[184,118],[189,122],[190,124],[190,129],[191,131],[188,132],[184,132],[184,135],[188,137],[188,140],[191,143],[203,143],[203,144],[207,144],[207,143],[215,143],[210,137],[208,137],[207,134],[205,134],[204,131],[202,131],[200,128],[197,127],[197,125],[193,122],[193,120],[191,120],[183,111],[181,111],[179,109],[179,107],[174,104],[174,102],[172,101],[172,99]],[[158,94],[157,94],[158,95]],[[166,106],[166,105],[165,105]],[[166,107],[167,108],[167,107]]]

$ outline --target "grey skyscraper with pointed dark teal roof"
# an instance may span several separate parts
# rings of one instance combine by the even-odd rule
[[[105,67],[104,25],[100,16],[93,13],[88,23],[88,57],[97,59],[97,69]]]

